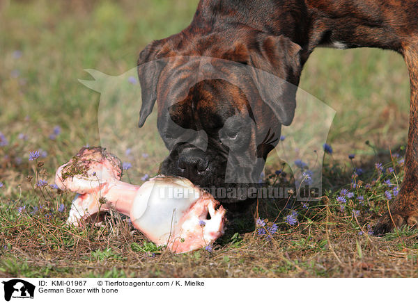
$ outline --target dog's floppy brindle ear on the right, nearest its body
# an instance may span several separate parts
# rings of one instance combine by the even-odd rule
[[[296,90],[302,70],[301,49],[284,35],[260,33],[249,51],[249,65],[254,67],[252,77],[258,91],[286,126],[295,115]]]

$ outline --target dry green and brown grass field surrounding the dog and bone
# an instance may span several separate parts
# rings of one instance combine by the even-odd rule
[[[213,252],[174,255],[132,232],[132,225],[115,214],[104,227],[68,227],[73,195],[33,189],[37,176],[51,183],[56,168],[80,147],[105,139],[99,136],[100,94],[77,81],[91,79],[84,69],[127,72],[146,44],[187,26],[196,3],[0,4],[0,131],[8,140],[0,147],[0,277],[417,277],[415,230],[383,238],[367,233],[368,224],[385,211],[385,180],[396,184],[403,177],[402,163],[392,160],[389,150],[403,154],[408,74],[401,56],[389,51],[318,49],[309,59],[300,87],[336,110],[327,141],[334,153],[325,156],[323,170],[325,196],[307,209],[297,208],[295,227],[285,222],[291,214],[285,202],[260,201],[253,213],[265,218],[267,227],[273,222],[279,227],[271,240],[258,236],[260,227],[249,216],[233,222]],[[16,58],[15,51],[22,56]],[[139,115],[139,105],[130,110],[132,117]],[[122,118],[115,119],[117,124]],[[56,125],[61,133],[50,140]],[[155,115],[137,129],[135,136],[143,142],[135,151],[149,157],[135,159],[125,181],[141,183],[139,177],[152,174],[167,154],[155,129]],[[40,158],[42,167],[28,161],[35,149],[47,151]],[[348,161],[350,153],[356,154],[353,162]],[[376,162],[394,167],[394,174],[380,174]],[[270,172],[278,167],[279,159],[271,157],[268,182],[274,181]],[[353,167],[365,171],[357,177],[362,186],[356,189],[350,187]],[[355,194],[343,212],[336,202],[341,188]],[[58,211],[61,204],[63,212]],[[26,208],[19,213],[22,206]],[[359,211],[356,218],[353,211]]]

